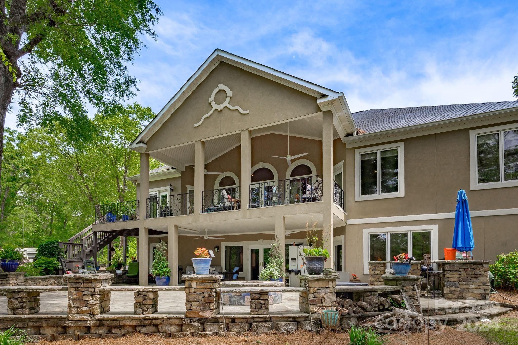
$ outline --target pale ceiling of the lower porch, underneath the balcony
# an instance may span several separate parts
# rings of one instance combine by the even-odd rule
[[[322,221],[322,214],[318,213],[286,216],[286,232],[295,230],[305,231],[307,222],[309,223],[309,228],[311,229],[313,222],[316,222],[317,224],[322,224]],[[341,220],[337,216],[334,216],[334,224],[335,228],[345,226],[343,220]],[[184,224],[179,225],[178,227],[179,234],[194,235],[198,237],[200,235],[205,235],[206,229],[208,230],[207,234],[209,236],[271,233],[275,231],[275,217],[235,219],[205,223]],[[154,229],[167,232],[166,226],[155,227]],[[321,228],[318,227],[318,229]],[[198,233],[193,233],[192,230],[198,231]]]

